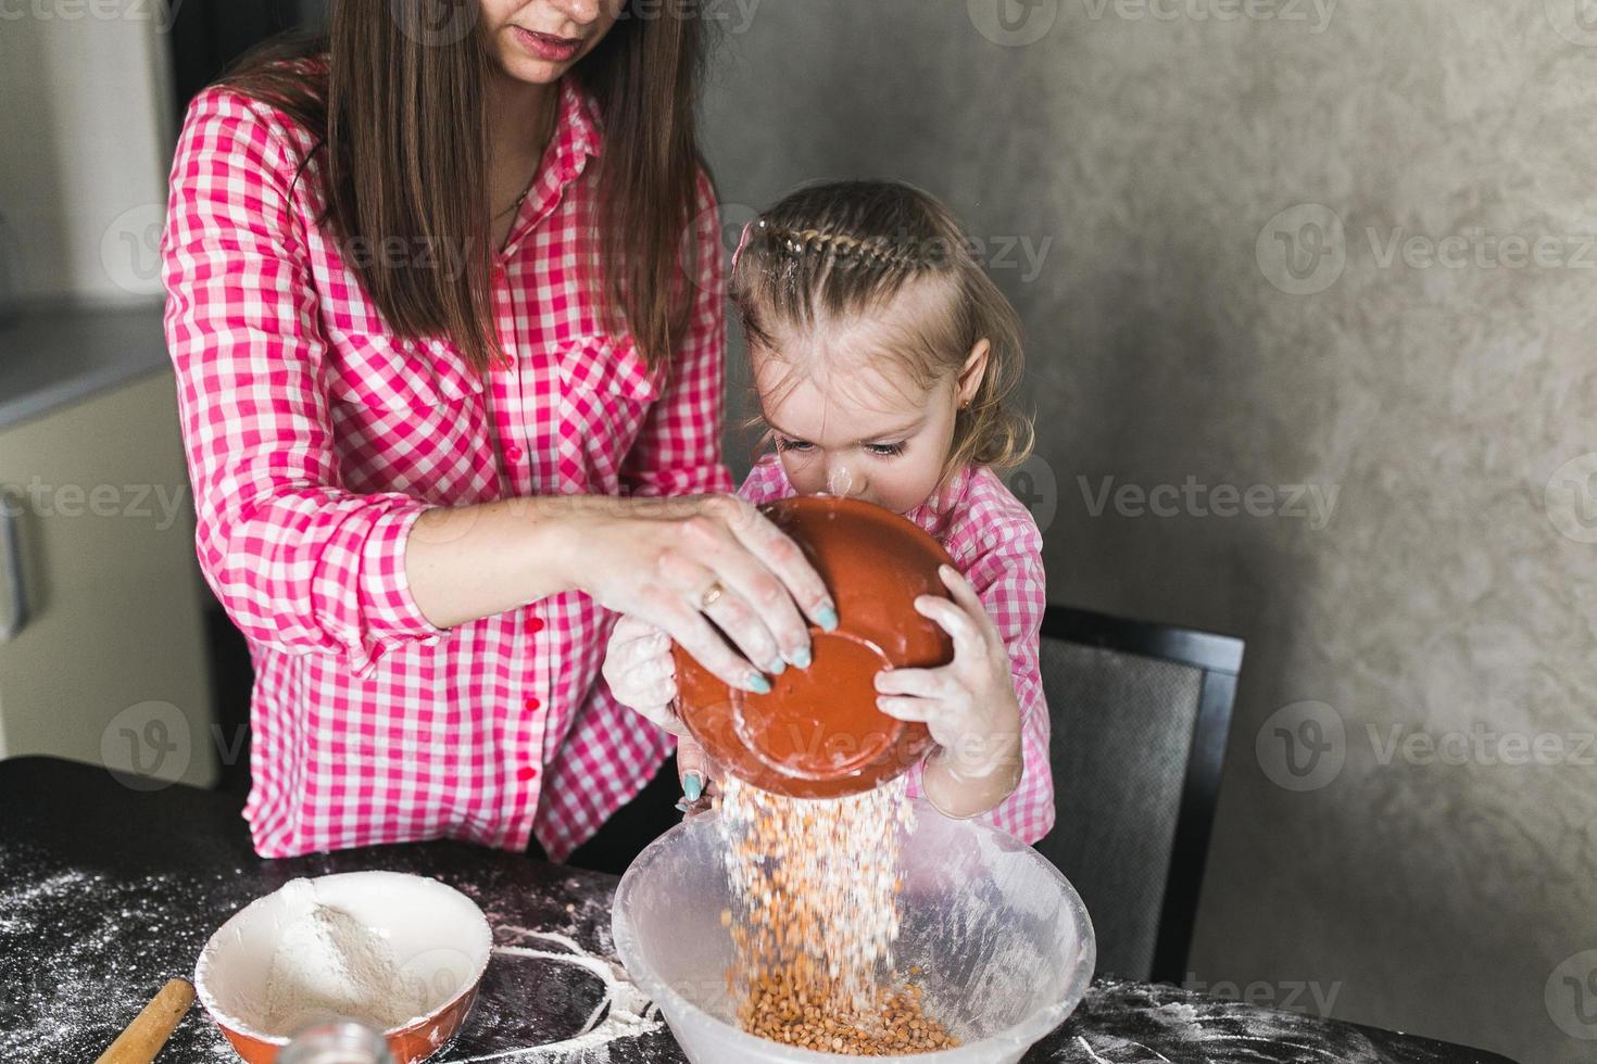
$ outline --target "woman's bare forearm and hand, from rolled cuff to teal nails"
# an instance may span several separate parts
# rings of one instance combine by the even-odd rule
[[[760,694],[770,691],[765,673],[810,667],[805,617],[837,627],[837,606],[798,546],[730,495],[439,506],[412,526],[404,566],[438,629],[581,590],[663,629],[723,683]]]

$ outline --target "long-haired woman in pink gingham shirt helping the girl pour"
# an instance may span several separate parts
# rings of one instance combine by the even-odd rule
[[[188,108],[166,332],[265,857],[567,860],[672,745],[596,683],[607,611],[749,691],[837,622],[725,495],[703,27],[618,8],[343,0]]]

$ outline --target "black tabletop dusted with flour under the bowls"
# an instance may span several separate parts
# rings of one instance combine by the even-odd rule
[[[616,879],[457,842],[371,847],[265,861],[225,794],[147,790],[53,758],[0,763],[0,1032],[6,1059],[94,1059],[204,940],[248,901],[295,876],[385,868],[471,895],[495,956],[460,1038],[439,1062],[684,1061],[653,1008],[612,1010],[578,1038],[604,984],[557,959],[500,952],[570,948],[613,957]],[[562,944],[561,938],[570,941]],[[629,1019],[631,1018],[631,1019]],[[570,1040],[564,1051],[551,1043]],[[543,1046],[535,1053],[533,1046]],[[236,1059],[195,1005],[160,1062]],[[1028,1064],[1506,1064],[1504,1058],[1166,986],[1092,984]]]

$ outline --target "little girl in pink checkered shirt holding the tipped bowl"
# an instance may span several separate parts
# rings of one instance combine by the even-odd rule
[[[953,662],[878,673],[877,702],[926,723],[937,743],[912,769],[912,794],[1041,839],[1054,823],[1041,536],[993,474],[1032,443],[1030,423],[1006,407],[1022,372],[1014,308],[949,211],[888,182],[789,195],[744,231],[731,290],[775,445],[738,495],[862,498],[949,550],[952,601],[926,595],[915,608],[953,640]],[[679,807],[692,809],[707,766],[671,708],[669,640],[623,617],[604,675],[621,703],[679,735]]]

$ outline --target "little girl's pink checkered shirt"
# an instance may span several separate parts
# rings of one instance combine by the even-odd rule
[[[751,502],[795,495],[775,455],[767,455],[738,488]],[[1009,649],[1009,675],[1020,703],[1020,748],[1025,774],[1014,794],[981,820],[1024,842],[1036,842],[1054,826],[1054,777],[1048,761],[1048,702],[1038,665],[1038,638],[1048,584],[1043,577],[1043,534],[1032,512],[985,466],[961,471],[941,493],[937,509],[917,506],[905,514],[942,544],[976,587],[987,616]],[[910,769],[909,793],[921,794],[920,766]]]

